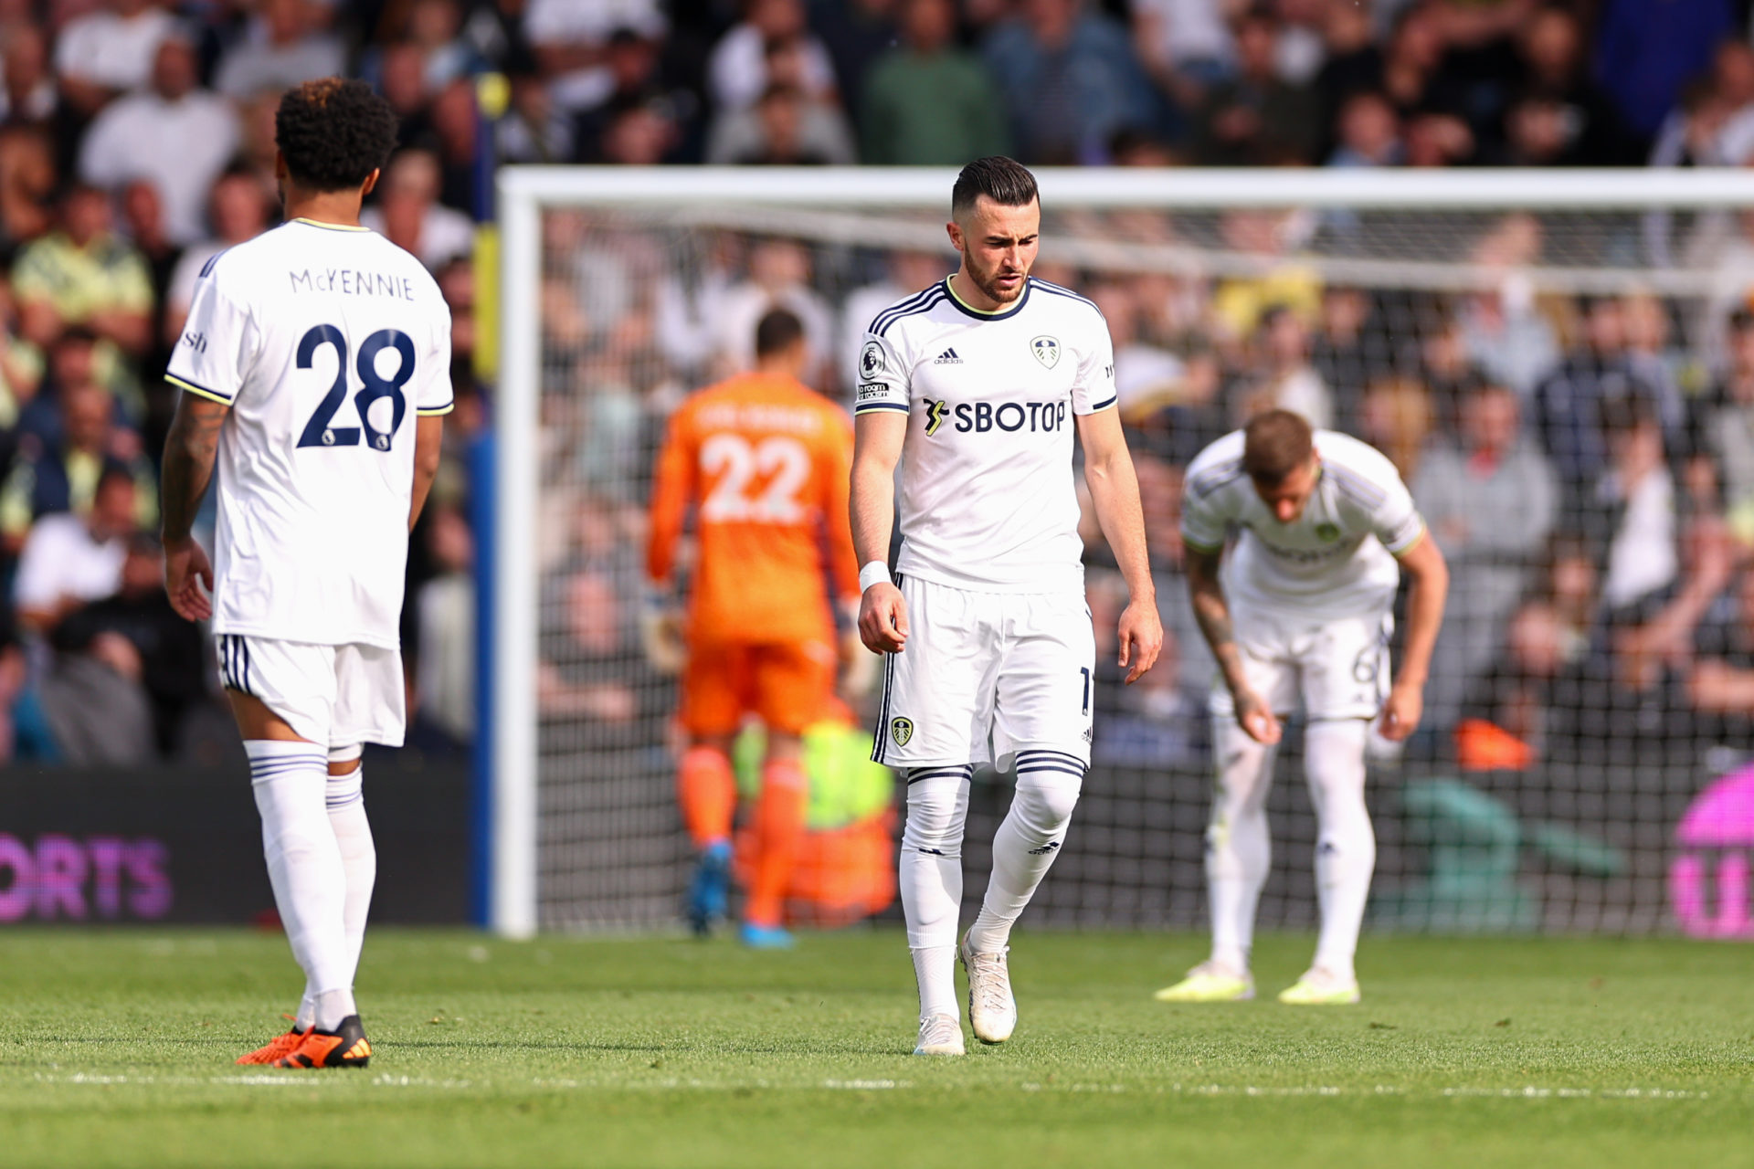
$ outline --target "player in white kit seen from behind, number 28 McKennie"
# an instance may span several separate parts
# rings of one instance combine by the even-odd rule
[[[289,89],[275,116],[286,223],[207,263],[167,380],[165,585],[212,617],[305,994],[240,1064],[363,1067],[353,999],[377,875],[363,743],[402,745],[396,633],[409,529],[451,410],[438,286],[360,226],[396,114],[360,81]],[[217,464],[217,468],[216,468]],[[217,470],[214,557],[191,538]]]

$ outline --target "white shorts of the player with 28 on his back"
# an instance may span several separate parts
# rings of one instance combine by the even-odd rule
[[[302,740],[323,747],[402,747],[407,689],[402,650],[310,645],[221,633],[219,682],[261,703]]]

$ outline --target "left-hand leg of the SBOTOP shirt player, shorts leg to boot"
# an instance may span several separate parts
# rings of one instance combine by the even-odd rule
[[[902,578],[909,643],[884,659],[872,759],[907,778],[900,890],[919,981],[917,1055],[961,1055],[956,927],[963,903],[963,829],[973,762],[988,757],[991,671],[979,601]],[[977,731],[979,729],[979,731]]]

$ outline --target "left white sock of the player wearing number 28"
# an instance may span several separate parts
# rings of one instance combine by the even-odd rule
[[[274,903],[305,971],[314,1024],[333,1031],[354,1013],[347,878],[326,810],[328,752],[314,743],[246,740],[251,789]]]

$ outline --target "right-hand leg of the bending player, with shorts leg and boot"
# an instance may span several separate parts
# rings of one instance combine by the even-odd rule
[[[1359,997],[1352,957],[1377,866],[1377,836],[1365,806],[1365,748],[1387,684],[1387,629],[1380,615],[1326,622],[1301,652],[1321,938],[1308,973],[1280,995],[1286,1003]]]

